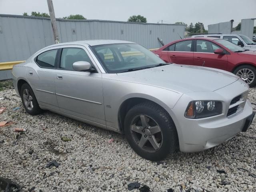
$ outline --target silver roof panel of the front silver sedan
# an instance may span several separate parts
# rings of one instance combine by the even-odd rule
[[[88,44],[90,46],[95,46],[95,45],[105,45],[105,44],[120,44],[120,43],[134,43],[130,41],[123,41],[123,40],[84,40],[84,41],[74,41],[74,42],[65,42],[65,43],[59,43],[59,44],[53,44],[50,45],[46,48],[49,47],[54,47],[54,46],[62,46],[62,45],[84,45]]]

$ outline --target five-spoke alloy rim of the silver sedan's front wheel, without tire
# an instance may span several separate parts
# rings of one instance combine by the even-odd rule
[[[162,146],[161,128],[150,116],[135,116],[130,124],[130,132],[134,142],[146,152],[156,152]]]

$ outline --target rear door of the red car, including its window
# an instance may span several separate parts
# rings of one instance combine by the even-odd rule
[[[170,62],[176,64],[193,65],[192,40],[184,40],[168,47]]]

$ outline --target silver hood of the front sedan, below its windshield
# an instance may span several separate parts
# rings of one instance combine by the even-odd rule
[[[179,64],[118,73],[116,78],[180,93],[214,91],[238,80],[237,76],[223,70]]]

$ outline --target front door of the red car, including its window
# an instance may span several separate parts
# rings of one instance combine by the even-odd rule
[[[226,70],[228,62],[227,55],[214,53],[214,50],[219,48],[221,47],[213,42],[196,40],[194,46],[194,65]]]

